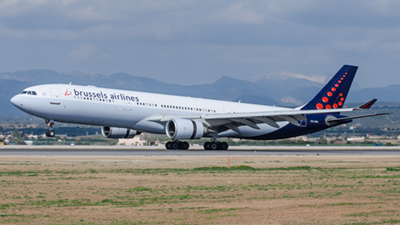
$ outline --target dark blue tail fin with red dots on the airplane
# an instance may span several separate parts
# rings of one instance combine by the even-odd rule
[[[357,66],[344,65],[325,87],[301,109],[342,108],[357,68]]]

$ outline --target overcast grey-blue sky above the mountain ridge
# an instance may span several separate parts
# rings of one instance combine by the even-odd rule
[[[400,84],[400,1],[1,0],[0,71],[127,72],[178,84],[359,66]]]

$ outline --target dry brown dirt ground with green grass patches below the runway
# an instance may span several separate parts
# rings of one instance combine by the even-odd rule
[[[2,224],[400,224],[400,156],[0,156]]]

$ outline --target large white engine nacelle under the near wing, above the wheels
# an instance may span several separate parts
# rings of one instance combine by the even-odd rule
[[[196,120],[172,119],[167,122],[165,132],[173,140],[200,139],[205,129],[203,123]]]

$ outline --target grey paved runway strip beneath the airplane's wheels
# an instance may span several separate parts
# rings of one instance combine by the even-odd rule
[[[0,156],[210,156],[210,155],[400,155],[400,148],[385,147],[246,147],[228,151],[164,150],[160,148],[0,148]]]

